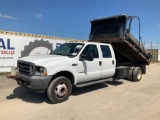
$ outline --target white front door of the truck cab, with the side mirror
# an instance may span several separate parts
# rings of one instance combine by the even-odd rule
[[[87,53],[93,54],[93,61],[79,60],[79,83],[97,80],[101,78],[101,65],[99,53],[96,45],[87,45],[80,56],[86,56]]]

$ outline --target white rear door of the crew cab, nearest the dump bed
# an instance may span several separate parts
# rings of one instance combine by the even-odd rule
[[[115,56],[108,45],[100,45],[102,51],[102,78],[112,77],[115,74]]]

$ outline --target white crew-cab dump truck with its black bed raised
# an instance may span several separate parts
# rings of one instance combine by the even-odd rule
[[[17,62],[17,83],[47,93],[54,103],[69,98],[72,87],[117,79],[140,81],[151,55],[127,27],[133,17],[118,15],[91,21],[90,39],[64,43],[48,55],[28,56]]]

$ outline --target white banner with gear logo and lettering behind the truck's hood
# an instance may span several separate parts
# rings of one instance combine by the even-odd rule
[[[0,35],[0,72],[10,72],[17,60],[29,55],[49,54],[66,41]]]

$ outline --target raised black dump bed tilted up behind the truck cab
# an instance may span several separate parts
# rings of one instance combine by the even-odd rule
[[[91,21],[89,41],[110,43],[115,51],[117,65],[149,65],[151,55],[140,40],[130,33],[131,22],[132,17],[127,15],[95,19]]]

